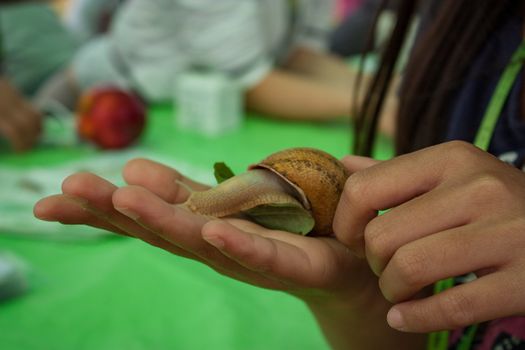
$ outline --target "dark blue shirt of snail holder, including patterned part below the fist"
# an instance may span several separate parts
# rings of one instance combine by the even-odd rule
[[[446,141],[474,142],[496,85],[523,40],[522,33],[523,19],[509,16],[509,20],[487,40],[450,105]],[[524,166],[525,160],[525,119],[521,107],[524,72],[522,68],[512,87],[488,149],[503,161],[520,168]],[[476,333],[472,348],[524,349],[524,325],[524,317],[483,323]],[[457,349],[463,332],[465,330],[452,332],[449,349]]]

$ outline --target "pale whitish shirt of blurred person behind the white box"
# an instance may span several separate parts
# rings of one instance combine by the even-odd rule
[[[83,88],[133,85],[153,101],[170,99],[177,75],[192,68],[225,72],[248,89],[294,48],[324,48],[332,5],[297,0],[293,11],[288,0],[128,0],[110,33],[79,52],[74,71]]]

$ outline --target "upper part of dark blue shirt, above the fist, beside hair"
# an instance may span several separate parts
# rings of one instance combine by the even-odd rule
[[[451,104],[447,140],[473,142],[487,106],[513,53],[523,40],[521,18],[510,18],[492,34]],[[522,167],[525,159],[525,119],[521,112],[523,69],[496,125],[489,152]]]

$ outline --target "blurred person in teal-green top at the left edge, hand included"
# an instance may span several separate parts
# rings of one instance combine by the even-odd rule
[[[42,114],[33,100],[69,65],[75,49],[45,1],[0,2],[0,139],[14,151],[37,143]]]

